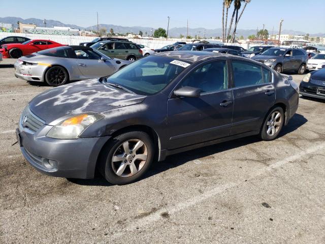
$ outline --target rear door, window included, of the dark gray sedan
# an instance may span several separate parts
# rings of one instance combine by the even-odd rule
[[[242,60],[233,60],[232,69],[234,115],[231,135],[259,130],[275,101],[271,72]]]

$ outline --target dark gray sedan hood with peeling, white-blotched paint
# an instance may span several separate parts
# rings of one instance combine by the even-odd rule
[[[145,97],[91,79],[49,89],[32,99],[29,108],[45,124],[54,126],[72,115],[133,105]]]

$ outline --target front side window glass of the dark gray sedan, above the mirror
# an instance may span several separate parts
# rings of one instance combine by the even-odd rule
[[[226,61],[203,65],[191,72],[182,81],[182,86],[197,87],[202,93],[213,93],[228,88],[228,70]]]

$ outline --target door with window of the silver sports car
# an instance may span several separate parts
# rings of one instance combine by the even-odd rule
[[[77,65],[80,73],[85,77],[102,77],[114,72],[114,67],[109,60],[104,62],[101,55],[92,50],[75,50]]]

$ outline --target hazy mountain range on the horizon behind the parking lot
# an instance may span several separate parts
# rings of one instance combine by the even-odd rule
[[[44,20],[43,19],[36,19],[36,18],[29,18],[29,19],[22,19],[19,17],[0,17],[0,22],[2,23],[10,23],[13,24],[15,27],[17,27],[17,21],[22,23],[33,23],[40,27],[45,27]],[[53,26],[62,26],[62,27],[71,27],[75,29],[86,29],[86,30],[97,30],[97,25],[92,25],[88,27],[82,27],[75,24],[64,24],[57,20],[46,20],[46,26],[47,27],[53,27]],[[154,32],[155,28],[153,27],[143,27],[143,26],[121,26],[121,25],[113,25],[113,24],[99,24],[99,28],[106,28],[107,31],[110,31],[112,28],[114,30],[114,33],[120,33],[120,34],[126,34],[126,33],[134,33],[139,34],[140,31],[145,35],[151,35],[151,30]],[[268,30],[269,34],[272,34],[272,30]],[[201,28],[188,28],[188,35],[189,36],[196,36],[198,35],[200,37],[220,37],[222,36],[222,29],[221,28],[215,28],[215,29],[205,29],[203,27]],[[204,34],[205,33],[205,34]],[[237,29],[236,31],[237,36],[244,36],[248,37],[249,35],[256,35],[256,29]],[[278,31],[274,30],[274,34],[277,34]],[[187,34],[187,28],[186,27],[174,27],[169,29],[168,36],[170,37],[179,37],[180,35],[186,36]],[[305,32],[300,31],[293,31],[291,29],[284,29],[281,34],[290,34],[290,35],[306,35]],[[325,33],[316,33],[316,34],[309,34],[309,36],[316,36],[316,37],[325,37]]]

